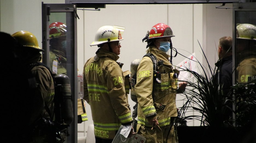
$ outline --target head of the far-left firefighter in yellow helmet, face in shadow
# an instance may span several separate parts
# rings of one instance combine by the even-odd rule
[[[28,31],[18,31],[11,35],[18,42],[19,46],[15,47],[14,51],[17,56],[24,60],[38,62],[41,60],[44,51],[38,46],[36,36]]]

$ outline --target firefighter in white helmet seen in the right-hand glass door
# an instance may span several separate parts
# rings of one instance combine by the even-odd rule
[[[256,79],[256,26],[237,24],[237,81],[247,83]]]

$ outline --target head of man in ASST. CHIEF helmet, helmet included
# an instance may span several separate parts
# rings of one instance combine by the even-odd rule
[[[120,54],[120,40],[123,40],[122,34],[124,27],[120,26],[102,26],[98,29],[95,35],[95,40],[90,46],[97,45],[101,49],[110,51],[117,55]]]

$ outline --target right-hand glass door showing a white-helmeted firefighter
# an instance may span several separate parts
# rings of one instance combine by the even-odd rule
[[[256,2],[233,7],[233,83],[248,83],[256,78]]]

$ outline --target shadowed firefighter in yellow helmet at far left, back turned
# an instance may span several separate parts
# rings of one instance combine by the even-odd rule
[[[15,47],[14,53],[20,57],[22,66],[32,73],[31,79],[28,79],[28,81],[35,79],[35,83],[30,83],[30,86],[35,86],[33,96],[28,97],[24,95],[28,101],[32,102],[29,109],[31,117],[27,118],[27,120],[29,120],[29,126],[27,126],[27,128],[34,130],[39,119],[49,119],[53,114],[54,81],[46,66],[33,66],[41,60],[41,52],[44,51],[38,46],[36,37],[28,31],[18,31],[11,36],[13,36],[19,44],[19,46]],[[29,133],[27,133],[27,135],[28,134]],[[31,136],[33,136],[32,139],[30,138]],[[26,138],[28,139],[27,142],[44,142],[48,136],[46,134],[37,134],[36,132],[32,134],[31,132]]]

